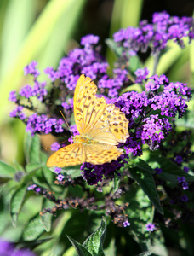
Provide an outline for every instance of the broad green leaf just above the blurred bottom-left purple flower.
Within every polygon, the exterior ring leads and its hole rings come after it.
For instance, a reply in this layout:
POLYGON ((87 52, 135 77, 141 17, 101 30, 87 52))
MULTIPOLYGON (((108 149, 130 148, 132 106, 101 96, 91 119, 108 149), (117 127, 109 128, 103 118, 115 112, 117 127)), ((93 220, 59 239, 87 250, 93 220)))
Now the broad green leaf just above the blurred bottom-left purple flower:
POLYGON ((23 230, 22 239, 25 241, 31 241, 37 239, 44 232, 43 224, 41 222, 39 213, 26 224, 23 230))

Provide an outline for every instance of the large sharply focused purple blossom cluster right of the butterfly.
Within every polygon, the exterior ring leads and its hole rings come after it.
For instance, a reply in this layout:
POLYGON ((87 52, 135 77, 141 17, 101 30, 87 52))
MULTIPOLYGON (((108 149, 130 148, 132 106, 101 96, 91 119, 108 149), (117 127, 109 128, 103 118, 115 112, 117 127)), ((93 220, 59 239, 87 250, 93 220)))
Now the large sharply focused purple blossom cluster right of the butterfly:
POLYGON ((165 75, 151 76, 145 84, 145 90, 148 94, 145 91, 128 91, 111 100, 129 120, 131 132, 124 145, 127 154, 142 154, 142 143, 148 144, 151 150, 158 148, 172 130, 169 119, 160 118, 159 114, 149 116, 150 112, 159 110, 161 116, 168 118, 178 113, 180 118, 188 108, 186 102, 191 99, 191 89, 186 84, 169 83, 165 75))

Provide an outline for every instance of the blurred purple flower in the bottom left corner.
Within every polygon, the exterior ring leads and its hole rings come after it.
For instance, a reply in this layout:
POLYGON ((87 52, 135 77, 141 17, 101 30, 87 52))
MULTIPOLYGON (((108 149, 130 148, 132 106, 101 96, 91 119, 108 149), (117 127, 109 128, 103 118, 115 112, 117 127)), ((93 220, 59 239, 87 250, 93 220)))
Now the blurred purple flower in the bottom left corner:
POLYGON ((28 249, 16 249, 9 241, 0 239, 0 255, 2 256, 35 256, 28 249))

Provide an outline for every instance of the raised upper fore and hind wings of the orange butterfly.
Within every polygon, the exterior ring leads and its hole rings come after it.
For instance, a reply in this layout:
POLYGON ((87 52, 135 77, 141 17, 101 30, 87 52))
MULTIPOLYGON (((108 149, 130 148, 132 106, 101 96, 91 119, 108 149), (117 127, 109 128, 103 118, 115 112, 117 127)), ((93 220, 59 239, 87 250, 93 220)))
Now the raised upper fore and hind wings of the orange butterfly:
POLYGON ((95 96, 97 86, 81 75, 74 94, 74 116, 80 134, 88 134, 96 142, 117 145, 129 137, 128 119, 104 97, 95 96))

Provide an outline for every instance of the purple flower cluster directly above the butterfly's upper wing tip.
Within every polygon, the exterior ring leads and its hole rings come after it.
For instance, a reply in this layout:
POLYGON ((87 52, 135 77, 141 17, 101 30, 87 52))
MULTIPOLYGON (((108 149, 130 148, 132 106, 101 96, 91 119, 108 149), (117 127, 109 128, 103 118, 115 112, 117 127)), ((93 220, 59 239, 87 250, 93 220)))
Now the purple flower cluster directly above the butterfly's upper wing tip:
POLYGON ((100 55, 99 49, 94 45, 99 41, 99 37, 88 35, 81 39, 83 49, 72 49, 70 53, 61 59, 57 70, 47 67, 44 72, 53 82, 60 79, 66 84, 68 90, 74 90, 77 79, 84 73, 91 79, 96 79, 106 73, 108 63, 100 55))

